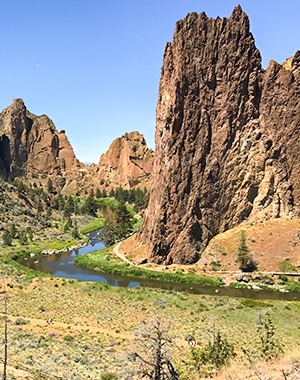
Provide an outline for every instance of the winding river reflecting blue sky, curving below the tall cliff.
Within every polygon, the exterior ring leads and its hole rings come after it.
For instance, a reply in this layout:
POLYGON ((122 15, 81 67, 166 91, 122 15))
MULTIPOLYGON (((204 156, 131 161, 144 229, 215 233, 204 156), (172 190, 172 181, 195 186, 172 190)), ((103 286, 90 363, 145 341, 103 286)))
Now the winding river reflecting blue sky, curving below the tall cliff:
POLYGON ((245 297, 254 299, 282 299, 300 300, 300 293, 280 293, 275 291, 236 288, 219 288, 211 286, 201 286, 198 284, 174 283, 161 280, 147 280, 119 276, 114 274, 101 273, 98 271, 81 268, 74 265, 74 258, 88 252, 104 248, 104 244, 99 239, 99 232, 95 231, 89 235, 90 242, 87 246, 73 249, 59 254, 41 255, 20 259, 18 262, 36 271, 48 273, 53 276, 75 279, 81 281, 102 282, 118 287, 151 287, 165 289, 169 291, 185 291, 194 294, 209 294, 229 297, 245 297))

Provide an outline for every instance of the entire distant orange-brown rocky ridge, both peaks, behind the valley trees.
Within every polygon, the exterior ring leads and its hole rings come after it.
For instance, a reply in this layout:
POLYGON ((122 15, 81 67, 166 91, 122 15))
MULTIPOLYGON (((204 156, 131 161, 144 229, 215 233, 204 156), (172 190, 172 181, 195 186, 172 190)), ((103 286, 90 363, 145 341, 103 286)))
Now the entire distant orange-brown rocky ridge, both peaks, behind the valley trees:
POLYGON ((80 194, 91 188, 149 186, 153 151, 138 132, 111 144, 98 165, 87 166, 75 157, 65 134, 46 115, 30 113, 22 99, 0 113, 0 177, 12 181, 46 183, 52 179, 62 193, 80 194))

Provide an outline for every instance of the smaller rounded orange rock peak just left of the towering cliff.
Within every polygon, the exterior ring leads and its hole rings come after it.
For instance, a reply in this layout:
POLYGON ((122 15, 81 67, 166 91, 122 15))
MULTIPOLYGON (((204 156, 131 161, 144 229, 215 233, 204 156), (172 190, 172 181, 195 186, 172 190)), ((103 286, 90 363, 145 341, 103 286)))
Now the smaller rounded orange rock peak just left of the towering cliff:
POLYGON ((96 179, 109 187, 149 187, 154 152, 139 132, 125 133, 115 139, 100 157, 96 179))

